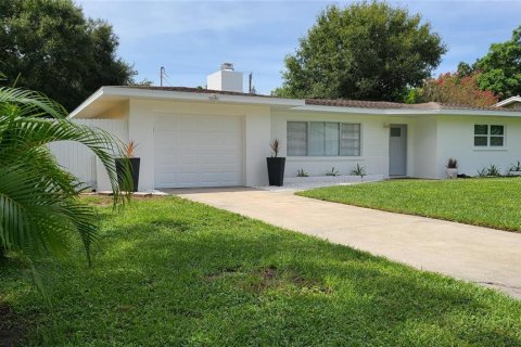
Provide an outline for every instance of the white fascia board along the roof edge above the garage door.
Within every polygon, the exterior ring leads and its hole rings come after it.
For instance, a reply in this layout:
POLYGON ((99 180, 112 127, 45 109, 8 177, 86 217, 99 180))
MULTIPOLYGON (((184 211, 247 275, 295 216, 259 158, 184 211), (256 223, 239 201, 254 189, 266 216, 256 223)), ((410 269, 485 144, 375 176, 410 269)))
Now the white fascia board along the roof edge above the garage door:
POLYGON ((249 97, 249 95, 228 95, 219 93, 198 93, 183 92, 171 90, 154 90, 154 89, 138 89, 125 87, 103 87, 103 94, 111 97, 127 97, 148 100, 185 100, 185 101, 206 101, 206 102, 229 102, 229 103, 244 103, 244 104, 259 104, 259 105, 280 105, 280 106, 298 106, 304 105, 304 100, 298 99, 280 99, 280 98, 264 98, 264 97, 249 97))

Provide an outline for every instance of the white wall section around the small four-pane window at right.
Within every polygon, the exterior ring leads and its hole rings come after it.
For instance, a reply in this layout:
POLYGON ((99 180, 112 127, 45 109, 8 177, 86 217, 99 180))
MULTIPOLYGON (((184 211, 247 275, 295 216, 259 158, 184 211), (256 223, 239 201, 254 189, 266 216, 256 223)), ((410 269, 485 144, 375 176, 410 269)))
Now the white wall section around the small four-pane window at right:
POLYGON ((503 172, 511 164, 521 160, 521 123, 509 117, 440 116, 437 121, 437 178, 445 177, 445 164, 449 157, 458 159, 459 174, 476 176, 478 170, 491 164, 503 172), (474 125, 505 126, 505 146, 497 149, 474 147, 474 125))

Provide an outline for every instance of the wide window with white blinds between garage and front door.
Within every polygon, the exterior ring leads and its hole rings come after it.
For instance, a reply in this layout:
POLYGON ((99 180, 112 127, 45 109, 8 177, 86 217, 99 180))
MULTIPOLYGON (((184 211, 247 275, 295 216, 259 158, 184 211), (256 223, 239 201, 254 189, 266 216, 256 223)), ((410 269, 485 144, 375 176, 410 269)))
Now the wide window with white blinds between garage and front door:
POLYGON ((288 156, 359 156, 360 125, 288 121, 288 156))

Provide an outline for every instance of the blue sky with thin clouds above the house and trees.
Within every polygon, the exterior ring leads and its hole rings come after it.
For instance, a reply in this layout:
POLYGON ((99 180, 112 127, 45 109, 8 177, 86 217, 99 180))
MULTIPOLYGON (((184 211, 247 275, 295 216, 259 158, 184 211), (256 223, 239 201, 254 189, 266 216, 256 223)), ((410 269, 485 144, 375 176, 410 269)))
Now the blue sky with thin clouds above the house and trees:
MULTIPOLYGON (((473 63, 493 42, 521 25, 517 1, 387 1, 431 23, 448 48, 434 75, 473 63)), ((87 16, 111 23, 119 37, 118 56, 134 64, 137 80, 164 86, 206 85, 224 62, 253 73, 257 93, 282 83, 283 60, 298 46, 320 11, 348 1, 150 1, 76 0, 87 16)), ((246 80, 244 86, 246 86, 246 80)))

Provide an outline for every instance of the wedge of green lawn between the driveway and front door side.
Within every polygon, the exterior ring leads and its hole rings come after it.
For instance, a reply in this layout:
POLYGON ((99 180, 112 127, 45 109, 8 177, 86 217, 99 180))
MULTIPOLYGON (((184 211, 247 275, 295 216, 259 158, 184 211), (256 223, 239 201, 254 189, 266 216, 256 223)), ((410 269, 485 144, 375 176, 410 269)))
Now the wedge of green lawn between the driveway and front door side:
POLYGON ((391 180, 320 188, 298 195, 521 231, 521 178, 391 180))

